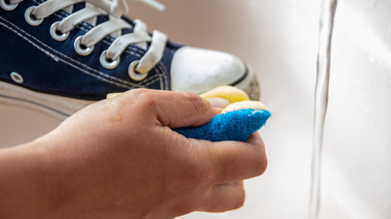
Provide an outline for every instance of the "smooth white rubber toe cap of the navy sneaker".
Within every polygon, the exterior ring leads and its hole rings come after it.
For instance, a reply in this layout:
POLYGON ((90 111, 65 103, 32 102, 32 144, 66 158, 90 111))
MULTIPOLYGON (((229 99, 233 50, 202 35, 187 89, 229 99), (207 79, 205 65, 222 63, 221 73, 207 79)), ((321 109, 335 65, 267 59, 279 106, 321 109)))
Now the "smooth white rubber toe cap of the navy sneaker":
POLYGON ((245 71, 245 64, 232 54, 183 46, 172 58, 171 90, 202 93, 238 81, 245 71))

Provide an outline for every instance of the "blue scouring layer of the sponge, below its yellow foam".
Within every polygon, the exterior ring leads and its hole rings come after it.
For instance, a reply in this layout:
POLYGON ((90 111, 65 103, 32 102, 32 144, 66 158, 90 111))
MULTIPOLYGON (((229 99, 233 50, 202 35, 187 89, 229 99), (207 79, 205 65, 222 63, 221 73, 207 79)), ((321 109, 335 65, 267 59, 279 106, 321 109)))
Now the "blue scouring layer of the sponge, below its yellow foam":
POLYGON ((269 117, 268 110, 239 109, 217 114, 208 123, 198 127, 180 127, 172 130, 189 138, 245 141, 260 129, 269 117))

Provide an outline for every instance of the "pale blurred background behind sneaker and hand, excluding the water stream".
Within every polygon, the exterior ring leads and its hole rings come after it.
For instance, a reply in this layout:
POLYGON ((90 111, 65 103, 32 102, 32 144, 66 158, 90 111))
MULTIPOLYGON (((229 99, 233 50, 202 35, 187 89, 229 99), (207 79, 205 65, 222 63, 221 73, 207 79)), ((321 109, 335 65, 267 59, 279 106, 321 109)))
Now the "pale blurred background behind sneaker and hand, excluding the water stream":
MULTIPOLYGON (((273 115, 260 131, 265 174, 245 182, 244 207, 182 218, 305 218, 312 152, 319 0, 128 1, 129 16, 173 41, 233 53, 253 66, 273 115)), ((340 0, 333 35, 320 218, 391 218, 391 1, 340 0)), ((0 104, 0 147, 56 127, 0 104)))

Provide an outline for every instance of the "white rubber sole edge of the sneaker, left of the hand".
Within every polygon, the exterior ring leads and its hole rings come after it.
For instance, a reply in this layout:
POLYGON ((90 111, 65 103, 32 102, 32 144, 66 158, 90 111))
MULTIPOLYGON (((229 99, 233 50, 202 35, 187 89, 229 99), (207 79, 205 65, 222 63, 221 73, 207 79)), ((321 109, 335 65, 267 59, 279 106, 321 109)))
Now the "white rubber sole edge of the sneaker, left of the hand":
POLYGON ((94 102, 36 92, 0 81, 0 103, 35 109, 62 120, 94 102))

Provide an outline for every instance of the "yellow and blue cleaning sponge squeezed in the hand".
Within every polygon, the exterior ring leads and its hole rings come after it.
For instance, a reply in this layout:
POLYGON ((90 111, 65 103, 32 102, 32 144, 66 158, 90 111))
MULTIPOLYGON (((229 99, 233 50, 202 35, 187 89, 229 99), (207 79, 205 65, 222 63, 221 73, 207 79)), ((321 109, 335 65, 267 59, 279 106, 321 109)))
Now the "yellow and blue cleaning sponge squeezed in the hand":
POLYGON ((245 92, 233 86, 216 87, 200 96, 204 98, 225 97, 230 100, 231 104, 204 125, 172 130, 186 137, 210 141, 245 141, 252 133, 260 129, 271 115, 262 102, 248 100, 245 92))

